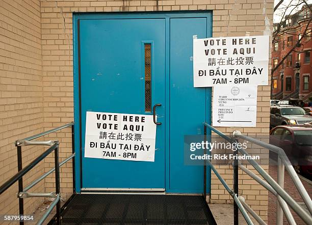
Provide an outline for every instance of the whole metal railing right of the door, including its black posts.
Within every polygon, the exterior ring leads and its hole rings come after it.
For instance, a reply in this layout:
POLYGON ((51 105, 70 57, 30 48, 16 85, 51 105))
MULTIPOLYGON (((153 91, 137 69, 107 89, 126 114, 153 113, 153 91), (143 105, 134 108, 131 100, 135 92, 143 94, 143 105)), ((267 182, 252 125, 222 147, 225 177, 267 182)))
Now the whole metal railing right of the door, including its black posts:
MULTIPOLYGON (((257 181, 259 184, 261 184, 262 186, 264 186, 268 191, 272 192, 278 202, 277 202, 277 206, 276 206, 276 224, 277 225, 281 225, 283 224, 283 213, 285 213, 285 217, 287 218, 288 222, 292 225, 292 224, 296 224, 296 221, 289 209, 289 206, 299 215, 299 217, 307 224, 312 224, 312 201, 307 193, 307 191, 305 190, 303 184, 301 183, 297 173, 295 172, 293 166, 291 165, 287 155, 285 154, 284 150, 270 145, 268 143, 262 142, 261 140, 257 140, 255 138, 252 137, 248 137, 246 135, 242 135, 240 131, 234 131, 233 132, 233 138, 225 135, 224 133, 222 133, 221 131, 217 130, 216 128, 212 127, 211 125, 204 123, 204 135, 206 136, 206 128, 209 128, 210 130, 214 131, 215 133, 217 133, 218 135, 220 135, 221 137, 223 137, 224 139, 228 140, 228 142, 233 143, 233 142, 238 142, 237 138, 241 138, 244 140, 247 140, 250 143, 253 143, 255 145, 258 146, 262 146, 266 149, 268 149, 269 151, 273 151, 275 153, 278 154, 278 178, 277 178, 277 182, 253 159, 251 158, 247 158, 248 162, 255 168, 255 170, 265 179, 263 180, 261 177, 255 175, 254 173, 252 173, 250 170, 248 170, 248 168, 246 168, 245 166, 243 166, 242 164, 240 164, 239 161, 235 162, 233 161, 233 166, 235 166, 237 164, 237 166, 239 168, 241 168, 242 171, 244 171, 247 175, 249 175, 251 178, 255 179, 255 181, 257 181), (306 207, 308 208, 308 211, 305 211, 286 191, 284 191, 283 189, 283 183, 284 183, 284 168, 287 168, 287 171, 290 175, 290 177, 292 178, 295 186, 297 187, 306 207)), ((204 139, 206 139, 206 137, 204 137, 204 139)), ((244 150, 243 148, 238 148, 238 151, 242 154, 242 155, 246 155, 249 156, 249 154, 247 153, 246 150, 244 150)), ((236 152, 238 152, 236 151, 236 152)), ((226 184, 226 182, 224 181, 224 179, 220 176, 220 174, 218 173, 218 171, 216 170, 216 168, 214 167, 214 165, 211 163, 210 160, 206 160, 212 170, 215 172, 216 176, 218 177, 218 179, 221 181, 221 183, 223 184, 223 186, 225 187, 225 189, 229 192, 229 194, 232 196, 233 200, 235 201, 234 207, 238 207, 240 209, 240 211, 242 212, 246 222, 248 224, 253 224, 249 215, 246 213, 246 210, 250 213, 250 215, 252 215, 254 217, 255 220, 257 220, 257 222, 259 222, 260 224, 266 224, 261 217, 259 217, 246 203, 245 200, 242 196, 238 196, 238 177, 234 176, 234 189, 236 189, 237 191, 233 191, 231 190, 228 185, 226 184), (236 187, 237 186, 237 187, 236 187), (246 210, 245 210, 246 209, 246 210)), ((204 164, 204 174, 205 174, 205 164, 204 164)), ((237 168, 234 167, 234 174, 237 173, 237 168)), ((204 179, 205 182, 205 179, 204 179)), ((236 212, 235 212, 236 213, 236 212)), ((237 212, 238 213, 238 212, 237 212)), ((236 220, 236 218, 238 218, 238 215, 234 216, 234 224, 238 224, 238 220, 236 220)))

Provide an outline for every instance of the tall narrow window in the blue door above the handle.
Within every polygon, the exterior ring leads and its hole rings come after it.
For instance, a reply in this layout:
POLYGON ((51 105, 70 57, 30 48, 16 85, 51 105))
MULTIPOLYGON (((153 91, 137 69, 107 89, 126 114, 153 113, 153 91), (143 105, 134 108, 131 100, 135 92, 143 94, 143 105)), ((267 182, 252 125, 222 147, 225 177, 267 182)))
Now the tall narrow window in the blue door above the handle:
POLYGON ((145 111, 151 111, 151 44, 144 44, 145 111))

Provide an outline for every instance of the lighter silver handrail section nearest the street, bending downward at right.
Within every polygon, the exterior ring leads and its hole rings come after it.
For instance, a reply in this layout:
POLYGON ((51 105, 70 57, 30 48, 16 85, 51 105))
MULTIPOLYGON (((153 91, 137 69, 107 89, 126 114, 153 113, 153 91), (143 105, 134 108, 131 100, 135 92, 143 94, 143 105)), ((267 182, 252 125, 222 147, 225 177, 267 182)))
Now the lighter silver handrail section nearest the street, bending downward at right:
MULTIPOLYGON (((262 146, 264 148, 267 148, 270 151, 273 151, 275 153, 278 154, 278 173, 279 175, 282 176, 278 176, 279 178, 279 183, 283 184, 283 170, 284 167, 287 167, 287 170, 291 176, 291 178, 293 179, 293 182, 295 183, 299 193, 301 194, 301 197, 303 199, 303 201, 305 202, 308 210, 310 211, 311 209, 311 205, 312 205, 312 201, 309 198, 309 195, 307 194, 303 184, 301 183, 297 173, 295 172, 294 168, 291 166, 290 161, 288 159, 288 157, 286 156, 285 152, 283 149, 270 145, 268 143, 265 142, 261 142, 260 140, 254 139, 252 137, 248 137, 246 135, 242 135, 240 131, 234 131, 233 132, 233 137, 236 138, 242 138, 244 140, 247 140, 248 142, 251 142, 253 144, 262 146), (282 164, 283 163, 283 164, 282 164)), ((249 154, 244 150, 244 149, 239 149, 239 151, 246 156, 249 156, 249 154)), ((255 168, 255 170, 269 183, 269 185, 277 192, 277 199, 279 197, 281 197, 285 202, 287 202, 287 204, 301 217, 301 219, 306 222, 307 224, 312 224, 312 217, 311 215, 309 215, 284 189, 283 187, 278 184, 255 160, 251 159, 251 158, 247 158, 248 162, 255 168)), ((282 206, 277 206, 277 212, 281 212, 279 213, 279 215, 277 215, 277 224, 281 224, 282 223, 282 206)), ((287 212, 288 214, 288 212, 287 212)), ((287 215, 288 216, 288 215, 287 215)), ((289 219, 289 218, 288 218, 289 219)), ((289 221, 290 223, 294 224, 294 221, 289 221)))

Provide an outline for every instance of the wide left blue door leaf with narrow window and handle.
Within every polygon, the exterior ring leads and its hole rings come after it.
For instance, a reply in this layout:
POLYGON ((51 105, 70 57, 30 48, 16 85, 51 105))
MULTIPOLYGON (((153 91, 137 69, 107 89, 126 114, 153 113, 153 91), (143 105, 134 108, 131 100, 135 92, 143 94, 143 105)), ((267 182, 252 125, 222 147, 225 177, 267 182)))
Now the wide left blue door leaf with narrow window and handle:
MULTIPOLYGON (((146 114, 144 46, 151 47, 151 105, 165 104, 165 20, 80 21, 82 143, 86 111, 146 114)), ((154 162, 82 158, 84 188, 165 188, 164 107, 154 162)), ((82 151, 84 156, 84 148, 82 151)))

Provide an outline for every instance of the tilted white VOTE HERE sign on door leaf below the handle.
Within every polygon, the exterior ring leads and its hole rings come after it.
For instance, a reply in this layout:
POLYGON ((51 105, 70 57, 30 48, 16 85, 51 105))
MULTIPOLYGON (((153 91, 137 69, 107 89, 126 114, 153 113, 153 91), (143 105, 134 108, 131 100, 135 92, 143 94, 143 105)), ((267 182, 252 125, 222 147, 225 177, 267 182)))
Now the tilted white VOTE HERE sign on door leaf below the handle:
POLYGON ((85 157, 153 162, 155 137, 152 115, 87 111, 85 157))

